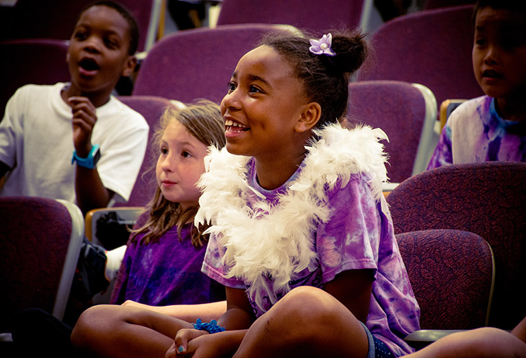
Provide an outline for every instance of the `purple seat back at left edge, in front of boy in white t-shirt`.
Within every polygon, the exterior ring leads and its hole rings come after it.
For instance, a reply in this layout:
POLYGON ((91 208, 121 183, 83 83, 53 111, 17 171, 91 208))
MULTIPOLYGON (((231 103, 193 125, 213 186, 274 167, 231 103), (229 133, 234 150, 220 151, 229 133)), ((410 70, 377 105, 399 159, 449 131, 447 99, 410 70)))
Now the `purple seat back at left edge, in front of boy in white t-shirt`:
POLYGON ((0 333, 40 308, 62 319, 84 238, 80 209, 47 198, 0 198, 0 333))

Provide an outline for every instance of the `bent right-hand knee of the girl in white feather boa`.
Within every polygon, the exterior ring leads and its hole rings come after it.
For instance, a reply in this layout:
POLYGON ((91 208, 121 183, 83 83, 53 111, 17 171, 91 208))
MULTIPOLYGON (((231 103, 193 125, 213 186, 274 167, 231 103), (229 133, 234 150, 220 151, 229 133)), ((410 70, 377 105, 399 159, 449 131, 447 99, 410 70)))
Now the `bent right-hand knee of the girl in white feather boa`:
POLYGON ((359 320, 322 289, 304 286, 291 290, 252 324, 234 357, 366 357, 367 353, 368 337, 359 320))

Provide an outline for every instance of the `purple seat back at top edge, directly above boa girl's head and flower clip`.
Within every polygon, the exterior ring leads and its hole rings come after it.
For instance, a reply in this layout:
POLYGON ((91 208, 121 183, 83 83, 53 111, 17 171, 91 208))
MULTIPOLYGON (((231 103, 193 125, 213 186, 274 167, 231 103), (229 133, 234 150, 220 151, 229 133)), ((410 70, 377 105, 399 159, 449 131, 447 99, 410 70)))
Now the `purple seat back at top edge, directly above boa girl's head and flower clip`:
POLYGON ((217 25, 287 24, 313 32, 361 25, 363 0, 224 0, 217 25))

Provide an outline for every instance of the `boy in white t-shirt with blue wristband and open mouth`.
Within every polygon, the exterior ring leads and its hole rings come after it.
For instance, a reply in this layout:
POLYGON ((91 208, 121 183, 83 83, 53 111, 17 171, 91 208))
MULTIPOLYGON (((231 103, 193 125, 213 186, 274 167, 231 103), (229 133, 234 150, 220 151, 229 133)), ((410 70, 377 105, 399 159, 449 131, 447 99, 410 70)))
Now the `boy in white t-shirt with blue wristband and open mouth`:
POLYGON ((0 122, 0 196, 75 202, 83 213, 127 201, 147 145, 148 125, 111 95, 132 74, 139 30, 111 1, 88 6, 67 51, 71 82, 19 88, 0 122))

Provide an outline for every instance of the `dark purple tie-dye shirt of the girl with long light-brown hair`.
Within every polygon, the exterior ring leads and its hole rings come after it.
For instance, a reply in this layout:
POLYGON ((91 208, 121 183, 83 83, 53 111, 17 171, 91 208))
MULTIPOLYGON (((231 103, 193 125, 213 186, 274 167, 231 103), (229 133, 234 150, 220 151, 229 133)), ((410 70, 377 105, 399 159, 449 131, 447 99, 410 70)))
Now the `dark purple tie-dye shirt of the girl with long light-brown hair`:
POLYGON ((186 305, 224 300, 224 287, 201 272, 206 246, 191 244, 190 228, 172 227, 156 243, 128 241, 124 259, 112 292, 112 303, 134 300, 152 306, 186 305))

